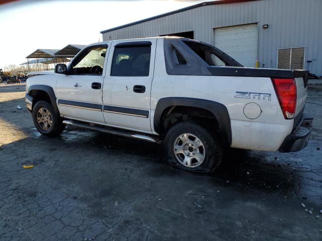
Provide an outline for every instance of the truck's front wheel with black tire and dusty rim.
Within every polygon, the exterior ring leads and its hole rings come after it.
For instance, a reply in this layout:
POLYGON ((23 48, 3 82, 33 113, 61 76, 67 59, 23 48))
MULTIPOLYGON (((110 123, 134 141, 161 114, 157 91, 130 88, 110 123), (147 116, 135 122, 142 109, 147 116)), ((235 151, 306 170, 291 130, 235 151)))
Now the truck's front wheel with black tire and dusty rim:
POLYGON ((65 125, 62 124, 61 117, 55 112, 52 105, 46 101, 40 100, 35 104, 32 110, 32 118, 38 132, 44 136, 59 136, 65 130, 65 125), (38 113, 40 109, 42 109, 42 111, 46 110, 46 115, 41 115, 38 113), (41 123, 39 123, 38 117, 42 120, 45 119, 45 121, 41 121, 41 123), (50 128, 49 126, 47 126, 48 128, 45 128, 44 124, 46 125, 46 123, 44 122, 47 122, 48 124, 48 121, 51 122, 50 128))

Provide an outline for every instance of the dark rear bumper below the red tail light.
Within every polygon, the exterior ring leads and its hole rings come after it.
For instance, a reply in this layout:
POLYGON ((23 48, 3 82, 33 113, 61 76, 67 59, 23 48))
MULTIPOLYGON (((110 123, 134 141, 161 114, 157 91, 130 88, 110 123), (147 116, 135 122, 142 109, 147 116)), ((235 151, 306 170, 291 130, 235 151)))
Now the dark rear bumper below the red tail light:
POLYGON ((288 135, 279 152, 297 152, 307 146, 312 131, 313 117, 303 115, 300 124, 288 135))

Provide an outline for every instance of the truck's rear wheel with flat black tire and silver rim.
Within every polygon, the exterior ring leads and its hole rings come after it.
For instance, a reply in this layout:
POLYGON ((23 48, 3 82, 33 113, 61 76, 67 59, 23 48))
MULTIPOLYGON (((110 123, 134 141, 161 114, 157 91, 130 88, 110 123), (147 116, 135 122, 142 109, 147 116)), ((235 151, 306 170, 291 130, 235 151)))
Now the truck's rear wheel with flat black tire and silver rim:
MULTIPOLYGON (((213 171, 215 171, 215 169, 221 163, 223 148, 217 138, 211 134, 215 132, 210 131, 210 129, 206 129, 203 126, 204 125, 199 125, 195 122, 180 122, 174 125, 168 131, 165 139, 165 147, 168 156, 167 162, 170 165, 176 166, 186 171, 198 173, 212 173, 213 171), (181 137, 184 137, 185 134, 187 134, 186 136, 188 136, 189 141, 185 145, 183 145, 184 143, 180 140, 181 137), (196 137, 196 139, 194 139, 193 136, 196 137), (196 140, 197 142, 201 141, 202 144, 199 149, 197 147, 197 151, 196 149, 194 149, 194 151, 189 152, 189 148, 193 149, 194 147, 188 147, 188 149, 184 148, 184 146, 193 146, 193 143, 195 143, 196 140), (182 143, 181 146, 180 142, 182 143), (177 147, 182 147, 182 150, 180 151, 183 151, 184 153, 176 154, 175 151, 178 151, 179 149, 175 149, 175 144, 178 144, 176 145, 177 147), (197 157, 197 155, 203 157, 203 161, 198 161, 197 158, 195 158, 197 157), (188 162, 184 161, 186 160, 186 158, 188 158, 187 160, 189 160, 189 158, 192 159, 192 161, 190 161, 191 165, 189 167, 187 166, 188 162)), ((187 140, 187 138, 185 140, 187 140)))

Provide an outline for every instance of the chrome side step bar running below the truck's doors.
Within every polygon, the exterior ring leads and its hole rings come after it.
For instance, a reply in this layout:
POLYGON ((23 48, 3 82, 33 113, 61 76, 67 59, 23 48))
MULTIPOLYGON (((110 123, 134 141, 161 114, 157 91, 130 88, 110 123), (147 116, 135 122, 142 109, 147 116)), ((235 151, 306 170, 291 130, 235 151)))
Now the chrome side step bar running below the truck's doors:
POLYGON ((124 132, 124 131, 118 131, 115 129, 108 129, 108 128, 104 128, 104 127, 97 127, 97 126, 90 126, 87 124, 82 124, 82 123, 78 123, 78 122, 73 122, 73 121, 63 121, 63 124, 67 125, 67 126, 72 126, 72 127, 80 127, 80 128, 86 128, 86 129, 90 129, 93 131, 99 131, 99 132, 104 132, 104 133, 108 133, 108 134, 113 134, 113 135, 118 135, 121 137, 128 137, 128 138, 133 138, 133 139, 140 139, 140 140, 144 140, 147 142, 152 142, 152 143, 159 143, 160 140, 157 138, 153 138, 153 137, 149 137, 149 136, 145 136, 145 135, 141 135, 141 134, 136 134, 136 133, 130 133, 130 132, 124 132))

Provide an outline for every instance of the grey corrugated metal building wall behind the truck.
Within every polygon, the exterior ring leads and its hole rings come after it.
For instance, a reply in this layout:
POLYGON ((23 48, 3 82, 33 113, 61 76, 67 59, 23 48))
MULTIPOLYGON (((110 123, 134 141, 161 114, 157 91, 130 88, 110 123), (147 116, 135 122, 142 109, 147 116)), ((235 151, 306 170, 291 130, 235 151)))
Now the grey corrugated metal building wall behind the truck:
MULTIPOLYGON (((259 0, 210 5, 103 33, 103 40, 154 37, 194 31, 194 38, 214 44, 214 28, 258 23, 260 66, 277 68, 277 50, 305 47, 304 68, 322 75, 321 0, 259 0), (268 24, 268 29, 262 26, 268 24)), ((232 56, 233 57, 233 56, 232 56)))

